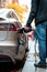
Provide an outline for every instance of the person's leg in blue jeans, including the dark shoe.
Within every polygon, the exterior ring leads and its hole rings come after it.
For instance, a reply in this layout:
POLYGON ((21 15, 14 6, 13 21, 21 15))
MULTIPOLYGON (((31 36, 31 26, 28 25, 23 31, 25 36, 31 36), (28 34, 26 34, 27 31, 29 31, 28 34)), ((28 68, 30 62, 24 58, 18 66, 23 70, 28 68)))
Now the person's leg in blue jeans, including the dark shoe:
POLYGON ((46 66, 46 25, 40 23, 36 25, 37 39, 39 44, 39 59, 40 62, 35 64, 35 66, 45 68, 46 66))

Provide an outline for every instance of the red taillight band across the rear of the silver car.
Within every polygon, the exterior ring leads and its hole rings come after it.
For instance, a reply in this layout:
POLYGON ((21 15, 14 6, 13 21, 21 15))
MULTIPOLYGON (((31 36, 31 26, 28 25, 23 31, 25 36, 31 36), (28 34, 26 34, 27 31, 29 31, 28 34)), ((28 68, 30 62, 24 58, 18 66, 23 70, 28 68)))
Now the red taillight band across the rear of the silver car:
POLYGON ((16 31, 17 24, 1 24, 0 31, 16 31))

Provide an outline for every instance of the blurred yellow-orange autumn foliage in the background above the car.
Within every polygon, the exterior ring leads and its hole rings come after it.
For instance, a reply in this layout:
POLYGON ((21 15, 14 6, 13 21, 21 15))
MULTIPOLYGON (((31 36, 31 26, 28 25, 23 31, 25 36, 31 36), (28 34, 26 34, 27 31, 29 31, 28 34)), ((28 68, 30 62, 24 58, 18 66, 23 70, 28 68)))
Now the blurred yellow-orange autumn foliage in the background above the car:
POLYGON ((12 0, 12 3, 9 3, 5 8, 13 9, 17 13, 21 23, 23 23, 23 13, 28 12, 28 9, 24 6, 22 7, 19 0, 12 0))

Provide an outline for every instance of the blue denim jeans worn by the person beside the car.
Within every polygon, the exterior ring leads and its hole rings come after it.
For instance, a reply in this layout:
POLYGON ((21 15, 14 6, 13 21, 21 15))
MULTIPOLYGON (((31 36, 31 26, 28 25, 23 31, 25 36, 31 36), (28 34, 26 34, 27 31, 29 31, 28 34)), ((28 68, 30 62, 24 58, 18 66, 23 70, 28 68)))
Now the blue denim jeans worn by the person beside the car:
POLYGON ((46 27, 47 21, 38 23, 36 25, 36 33, 37 33, 36 38, 38 39, 40 61, 46 61, 46 27))

